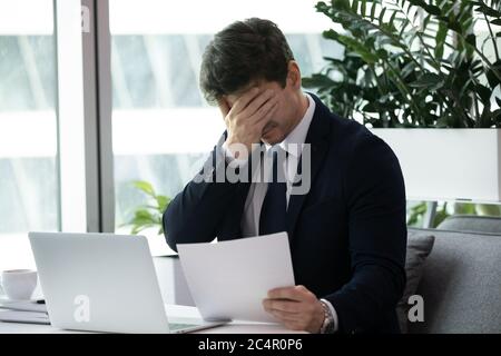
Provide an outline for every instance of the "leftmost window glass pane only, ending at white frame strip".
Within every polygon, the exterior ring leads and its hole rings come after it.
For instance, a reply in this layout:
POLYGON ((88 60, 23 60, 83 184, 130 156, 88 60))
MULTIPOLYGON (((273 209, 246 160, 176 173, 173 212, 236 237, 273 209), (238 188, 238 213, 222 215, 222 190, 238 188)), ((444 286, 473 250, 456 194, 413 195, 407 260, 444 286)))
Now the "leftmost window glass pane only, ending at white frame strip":
POLYGON ((59 228, 51 0, 0 0, 0 78, 2 269, 22 265, 26 231, 59 228))

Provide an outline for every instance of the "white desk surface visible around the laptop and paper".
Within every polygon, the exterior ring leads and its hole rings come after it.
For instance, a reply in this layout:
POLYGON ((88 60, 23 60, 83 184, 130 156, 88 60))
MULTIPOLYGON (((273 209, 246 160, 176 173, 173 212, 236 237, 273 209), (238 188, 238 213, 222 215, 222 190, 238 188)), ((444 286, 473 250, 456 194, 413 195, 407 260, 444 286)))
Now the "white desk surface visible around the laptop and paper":
MULTIPOLYGON (((195 307, 166 305, 170 317, 200 317, 195 307)), ((78 334, 82 332, 61 330, 50 325, 18 324, 0 322, 0 334, 78 334)), ((281 325, 249 322, 233 322, 227 325, 204 329, 197 334, 304 334, 288 330, 281 325)))

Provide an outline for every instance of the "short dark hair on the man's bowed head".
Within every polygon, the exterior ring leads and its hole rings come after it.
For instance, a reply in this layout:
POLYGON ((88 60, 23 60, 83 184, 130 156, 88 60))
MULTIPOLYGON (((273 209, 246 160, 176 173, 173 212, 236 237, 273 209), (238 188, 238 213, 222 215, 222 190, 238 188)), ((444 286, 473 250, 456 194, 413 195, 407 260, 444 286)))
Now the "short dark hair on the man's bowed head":
POLYGON ((236 21, 216 33, 205 49, 200 88, 212 105, 254 80, 276 81, 284 88, 293 59, 284 33, 274 22, 257 18, 236 21))

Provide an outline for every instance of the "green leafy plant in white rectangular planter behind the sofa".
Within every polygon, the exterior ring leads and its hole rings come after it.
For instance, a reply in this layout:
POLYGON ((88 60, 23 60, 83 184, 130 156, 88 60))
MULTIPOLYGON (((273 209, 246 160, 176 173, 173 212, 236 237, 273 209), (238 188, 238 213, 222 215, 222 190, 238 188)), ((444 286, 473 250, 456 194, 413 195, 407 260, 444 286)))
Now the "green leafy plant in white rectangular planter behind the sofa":
POLYGON ((501 1, 333 0, 316 10, 344 56, 325 58, 303 86, 393 148, 409 198, 500 201, 501 1))

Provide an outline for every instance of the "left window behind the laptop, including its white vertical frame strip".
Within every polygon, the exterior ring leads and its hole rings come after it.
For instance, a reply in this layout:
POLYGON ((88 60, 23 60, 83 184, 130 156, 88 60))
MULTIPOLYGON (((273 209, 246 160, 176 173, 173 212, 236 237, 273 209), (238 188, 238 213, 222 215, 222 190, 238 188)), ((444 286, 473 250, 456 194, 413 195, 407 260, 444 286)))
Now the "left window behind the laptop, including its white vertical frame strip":
POLYGON ((81 22, 80 0, 0 0, 0 269, 35 267, 28 231, 86 230, 81 22))

